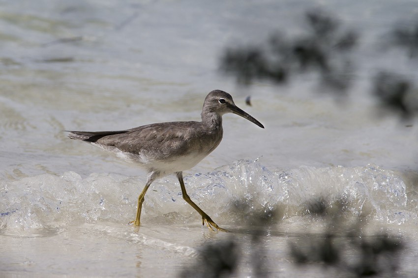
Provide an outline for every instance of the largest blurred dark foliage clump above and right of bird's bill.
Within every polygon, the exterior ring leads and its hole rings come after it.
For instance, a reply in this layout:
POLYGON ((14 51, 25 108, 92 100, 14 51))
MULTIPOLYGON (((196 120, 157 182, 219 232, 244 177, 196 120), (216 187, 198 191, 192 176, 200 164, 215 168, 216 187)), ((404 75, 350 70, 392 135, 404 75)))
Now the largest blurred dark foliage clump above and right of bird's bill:
POLYGON ((306 34, 287 39, 281 33, 270 36, 266 45, 230 48, 221 57, 221 69, 239 83, 267 79, 285 83, 296 73, 319 73, 321 84, 343 93, 351 84, 353 65, 349 51, 357 43, 353 30, 319 11, 305 16, 306 34))

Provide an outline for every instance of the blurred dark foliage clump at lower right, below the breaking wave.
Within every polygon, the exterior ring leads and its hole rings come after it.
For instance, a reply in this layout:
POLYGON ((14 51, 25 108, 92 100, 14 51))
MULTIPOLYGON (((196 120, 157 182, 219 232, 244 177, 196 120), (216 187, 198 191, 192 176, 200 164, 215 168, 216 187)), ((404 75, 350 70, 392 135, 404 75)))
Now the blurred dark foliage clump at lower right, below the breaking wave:
POLYGON ((320 198, 307 204, 307 214, 325 219, 328 228, 321 235, 307 235, 303 243, 290 243, 296 263, 333 267, 346 276, 395 275, 403 249, 402 240, 388 233, 365 235, 360 228, 361 219, 347 222, 343 200, 332 206, 326 203, 320 198), (352 250, 357 259, 350 260, 347 250, 352 250))

